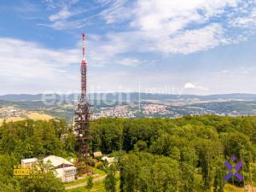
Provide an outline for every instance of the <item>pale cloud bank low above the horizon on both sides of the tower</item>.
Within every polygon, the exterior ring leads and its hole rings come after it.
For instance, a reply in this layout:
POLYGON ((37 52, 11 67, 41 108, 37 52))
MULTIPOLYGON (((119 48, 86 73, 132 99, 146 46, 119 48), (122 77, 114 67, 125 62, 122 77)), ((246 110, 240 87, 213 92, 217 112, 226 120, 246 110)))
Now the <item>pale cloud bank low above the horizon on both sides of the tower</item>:
MULTIPOLYGON (((98 39, 95 37, 95 39, 98 39)), ((113 39, 112 39, 113 40, 113 39)), ((118 42, 116 42, 118 43, 118 42)), ((90 44, 87 45, 89 47, 90 44)), ((79 46, 79 44, 78 44, 79 46)), ((104 45, 102 48, 97 46, 98 51, 106 50, 109 47, 104 45)), ((185 93, 209 94, 225 92, 247 92, 255 91, 253 82, 255 82, 255 68, 237 68, 236 71, 230 69, 224 70, 220 74, 193 75, 184 72, 183 75, 174 72, 147 72, 134 70, 131 73, 128 70, 92 70, 92 66, 103 62, 105 65, 113 65, 113 62, 127 62, 134 65, 143 61, 137 61, 134 58, 118 58, 118 48, 110 48, 112 52, 98 54, 100 58, 91 58, 89 86, 98 86, 96 91, 134 91, 141 86, 141 90, 161 90, 168 93, 177 93, 183 90, 185 93), (110 55, 113 62, 108 60, 110 55), (224 74, 223 74, 224 73, 224 74), (118 80, 117 80, 118 79, 118 80), (221 84, 216 83, 222 82, 221 84), (194 82, 197 83, 194 83, 194 82), (140 83, 138 83, 140 82, 140 83), (187 83, 186 83, 187 82, 187 83), (193 83, 190 83, 193 82, 193 83), (207 84, 209 90, 204 84, 207 84), (122 89, 121 89, 122 88, 122 89), (229 89, 227 89, 229 88, 229 89)), ((0 38, 0 95, 5 93, 38 93, 38 92, 69 92, 79 90, 79 61, 80 49, 47 49, 40 44, 21 41, 12 38, 0 38), (68 55, 68 56, 67 56, 68 55), (75 71, 69 70, 70 65, 76 66, 75 71), (32 90, 29 88, 32 87, 32 90)), ((126 64, 127 64, 126 63, 126 64)), ((110 67, 111 68, 111 67, 110 67)), ((132 67, 131 67, 132 69, 132 67)))

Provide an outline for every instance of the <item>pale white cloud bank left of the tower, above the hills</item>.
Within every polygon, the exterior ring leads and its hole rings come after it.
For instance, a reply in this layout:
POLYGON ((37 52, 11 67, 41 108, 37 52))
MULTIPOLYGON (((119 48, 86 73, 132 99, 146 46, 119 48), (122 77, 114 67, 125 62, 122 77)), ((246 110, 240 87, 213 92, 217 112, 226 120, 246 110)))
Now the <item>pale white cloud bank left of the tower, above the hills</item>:
POLYGON ((0 94, 31 92, 28 87, 35 91, 72 90, 76 78, 68 67, 79 63, 79 53, 79 49, 54 50, 32 42, 0 38, 0 73, 4 77, 0 94))

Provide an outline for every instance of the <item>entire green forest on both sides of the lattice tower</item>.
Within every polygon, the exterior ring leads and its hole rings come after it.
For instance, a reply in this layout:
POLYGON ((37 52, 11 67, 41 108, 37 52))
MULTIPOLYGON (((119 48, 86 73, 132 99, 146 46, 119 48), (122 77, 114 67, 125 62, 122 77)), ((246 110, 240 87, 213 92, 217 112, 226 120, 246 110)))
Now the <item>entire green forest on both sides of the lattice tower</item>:
MULTIPOLYGON (((116 157, 108 175, 119 174, 120 192, 221 192, 225 183, 256 183, 256 117, 185 116, 178 119, 96 119, 91 153, 116 157), (243 180, 231 177, 225 161, 242 160, 243 180), (112 173, 111 173, 112 172, 112 173)), ((65 191, 51 172, 42 179, 13 177, 20 160, 55 154, 76 156, 73 126, 65 120, 25 120, 0 127, 2 191, 65 191)), ((115 191, 108 189, 107 191, 115 191)))

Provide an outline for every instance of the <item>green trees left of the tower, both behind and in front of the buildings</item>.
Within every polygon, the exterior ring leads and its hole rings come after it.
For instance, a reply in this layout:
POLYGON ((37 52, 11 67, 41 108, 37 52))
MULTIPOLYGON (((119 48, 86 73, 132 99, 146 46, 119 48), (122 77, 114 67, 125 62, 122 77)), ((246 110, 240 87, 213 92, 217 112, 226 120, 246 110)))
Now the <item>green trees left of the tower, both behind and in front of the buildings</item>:
POLYGON ((16 178, 13 176, 14 166, 20 165, 20 160, 25 158, 40 158, 49 154, 73 156, 74 147, 72 129, 64 120, 4 122, 0 126, 0 190, 65 191, 61 180, 53 172, 43 172, 36 178, 16 178))

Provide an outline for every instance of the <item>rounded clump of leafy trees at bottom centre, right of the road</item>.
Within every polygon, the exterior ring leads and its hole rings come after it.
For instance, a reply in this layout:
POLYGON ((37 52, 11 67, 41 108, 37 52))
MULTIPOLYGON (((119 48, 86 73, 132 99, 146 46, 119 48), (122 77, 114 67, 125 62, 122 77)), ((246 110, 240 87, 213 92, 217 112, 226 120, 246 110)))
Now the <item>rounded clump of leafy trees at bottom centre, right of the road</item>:
POLYGON ((131 153, 123 157, 122 164, 125 192, 178 191, 182 188, 176 160, 147 153, 131 153))

